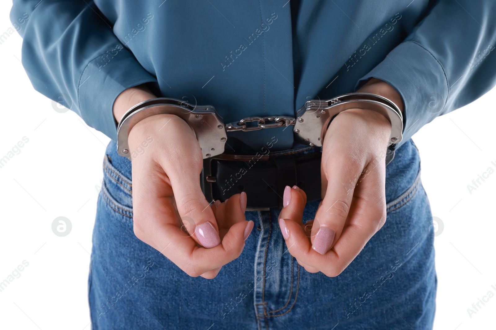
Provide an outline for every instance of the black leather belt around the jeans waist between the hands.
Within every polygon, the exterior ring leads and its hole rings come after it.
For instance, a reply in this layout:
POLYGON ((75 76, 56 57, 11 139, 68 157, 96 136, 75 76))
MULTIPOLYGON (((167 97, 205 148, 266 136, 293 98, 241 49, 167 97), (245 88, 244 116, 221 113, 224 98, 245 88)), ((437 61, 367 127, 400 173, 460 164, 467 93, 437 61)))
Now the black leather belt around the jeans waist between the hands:
POLYGON ((220 154, 203 160, 201 189, 207 201, 225 201, 245 191, 247 210, 282 208, 286 186, 305 190, 307 201, 321 198, 319 150, 307 154, 220 154))

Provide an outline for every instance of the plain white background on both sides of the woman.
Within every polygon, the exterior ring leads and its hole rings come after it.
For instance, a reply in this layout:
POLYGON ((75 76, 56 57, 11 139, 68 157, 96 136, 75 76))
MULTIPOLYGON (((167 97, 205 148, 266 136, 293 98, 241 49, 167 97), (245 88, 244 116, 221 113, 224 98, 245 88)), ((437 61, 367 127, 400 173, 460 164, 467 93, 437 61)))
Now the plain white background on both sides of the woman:
MULTIPOLYGON (((11 3, 0 4, 0 34, 11 27, 11 3)), ((496 56, 490 54, 489 56, 496 56)), ((0 292, 2 329, 89 329, 87 275, 102 160, 109 138, 72 111, 59 113, 31 86, 14 31, 0 45, 0 158, 25 136, 21 152, 0 168, 2 211, 0 282, 26 260, 29 265, 0 292), (59 216, 72 223, 68 236, 52 232, 59 216)), ((414 136, 422 157, 422 182, 433 215, 444 229, 435 238, 438 276, 434 329, 495 329, 494 240, 496 173, 469 193, 467 185, 496 169, 492 90, 475 102, 426 125, 414 136)))

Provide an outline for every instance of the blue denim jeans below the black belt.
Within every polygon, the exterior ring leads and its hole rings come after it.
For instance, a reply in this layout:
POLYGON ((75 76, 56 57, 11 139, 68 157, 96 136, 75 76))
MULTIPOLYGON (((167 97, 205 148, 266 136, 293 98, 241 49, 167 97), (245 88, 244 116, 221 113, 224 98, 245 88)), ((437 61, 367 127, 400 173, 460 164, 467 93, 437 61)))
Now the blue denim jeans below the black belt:
MULTIPOLYGON (((277 209, 246 212, 254 228, 245 249, 216 278, 189 277, 134 236, 131 165, 113 141, 103 172, 88 280, 92 329, 432 329, 432 216, 412 140, 386 167, 385 225, 334 278, 298 265, 277 209)), ((304 221, 318 202, 307 204, 304 221)))

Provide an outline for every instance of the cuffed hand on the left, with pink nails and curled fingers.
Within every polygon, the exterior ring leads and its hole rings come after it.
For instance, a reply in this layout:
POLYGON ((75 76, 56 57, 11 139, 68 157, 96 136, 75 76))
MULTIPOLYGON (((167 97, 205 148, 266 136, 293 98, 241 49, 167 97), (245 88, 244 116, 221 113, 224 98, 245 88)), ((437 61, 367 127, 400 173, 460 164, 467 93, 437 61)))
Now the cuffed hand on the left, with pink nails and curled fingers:
POLYGON ((141 120, 129 132, 128 145, 134 234, 189 276, 214 278, 240 256, 253 228, 245 220, 246 193, 210 205, 200 189, 200 146, 176 115, 141 120))

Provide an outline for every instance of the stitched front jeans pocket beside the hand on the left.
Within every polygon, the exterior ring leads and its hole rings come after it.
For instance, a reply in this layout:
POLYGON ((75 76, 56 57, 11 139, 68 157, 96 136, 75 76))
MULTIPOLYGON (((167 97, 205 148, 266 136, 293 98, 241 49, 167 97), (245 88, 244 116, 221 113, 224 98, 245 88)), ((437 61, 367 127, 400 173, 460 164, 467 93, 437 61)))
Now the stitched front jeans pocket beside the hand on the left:
POLYGON ((108 154, 103 161, 102 196, 115 211, 132 217, 132 182, 112 165, 108 154))

